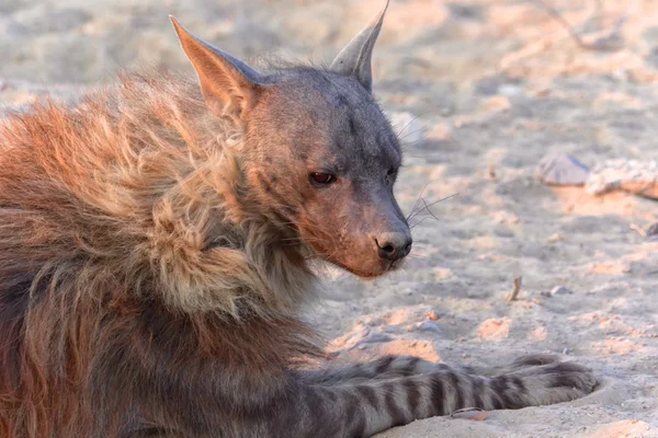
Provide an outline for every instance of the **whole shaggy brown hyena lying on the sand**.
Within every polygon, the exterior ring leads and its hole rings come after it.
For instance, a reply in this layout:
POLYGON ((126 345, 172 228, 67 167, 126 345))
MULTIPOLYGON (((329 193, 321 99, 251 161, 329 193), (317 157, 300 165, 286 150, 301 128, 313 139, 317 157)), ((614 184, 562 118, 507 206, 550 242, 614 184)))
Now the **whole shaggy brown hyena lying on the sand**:
POLYGON ((197 82, 128 74, 2 122, 0 436, 362 437, 593 389, 544 356, 307 366, 310 261, 374 277, 411 247, 383 15, 329 68, 266 73, 173 20, 197 82))

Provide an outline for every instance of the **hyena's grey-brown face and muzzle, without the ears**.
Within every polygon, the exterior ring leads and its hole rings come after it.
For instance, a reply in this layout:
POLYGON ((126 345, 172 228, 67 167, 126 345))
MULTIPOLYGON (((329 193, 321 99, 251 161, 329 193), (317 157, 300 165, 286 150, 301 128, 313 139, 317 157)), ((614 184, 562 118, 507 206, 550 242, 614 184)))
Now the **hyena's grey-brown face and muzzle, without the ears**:
POLYGON ((409 253, 393 194, 399 143, 359 81, 315 69, 279 73, 250 112, 247 145, 257 198, 318 255, 370 277, 409 253))

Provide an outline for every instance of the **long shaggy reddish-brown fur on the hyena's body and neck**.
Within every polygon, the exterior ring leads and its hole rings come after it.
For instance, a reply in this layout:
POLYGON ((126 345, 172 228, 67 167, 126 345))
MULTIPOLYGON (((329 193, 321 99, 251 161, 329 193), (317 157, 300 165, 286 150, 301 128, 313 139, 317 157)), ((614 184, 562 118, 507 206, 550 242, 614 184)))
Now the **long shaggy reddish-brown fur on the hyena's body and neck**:
POLYGON ((114 436, 135 412, 203 425, 218 394, 266 403, 280 389, 261 387, 317 354, 294 318, 302 249, 250 265, 280 243, 237 193, 228 122, 193 84, 124 77, 2 123, 0 436, 114 436), (208 249, 237 220, 217 206, 242 223, 232 243, 258 233, 250 260, 208 249))

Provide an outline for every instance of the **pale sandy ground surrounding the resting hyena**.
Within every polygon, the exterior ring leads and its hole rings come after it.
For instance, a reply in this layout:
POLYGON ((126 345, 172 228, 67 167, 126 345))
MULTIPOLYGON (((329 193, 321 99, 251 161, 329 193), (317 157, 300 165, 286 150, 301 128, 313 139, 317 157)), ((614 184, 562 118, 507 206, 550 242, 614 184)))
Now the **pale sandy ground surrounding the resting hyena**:
MULTIPOLYGON (((337 360, 501 364, 552 351, 604 384, 572 403, 382 437, 658 437, 658 242, 637 231, 658 221, 658 203, 534 177, 549 151, 590 165, 658 159, 658 1, 546 1, 598 49, 531 1, 392 1, 374 73, 406 142, 398 199, 411 211, 421 192, 428 203, 456 196, 412 220, 406 270, 370 283, 333 273, 313 318, 337 360), (514 277, 522 289, 508 302, 514 277), (566 291, 552 295, 557 286, 566 291)), ((0 0, 0 99, 67 95, 66 84, 120 67, 192 72, 169 13, 238 56, 329 61, 381 3, 0 0)))

